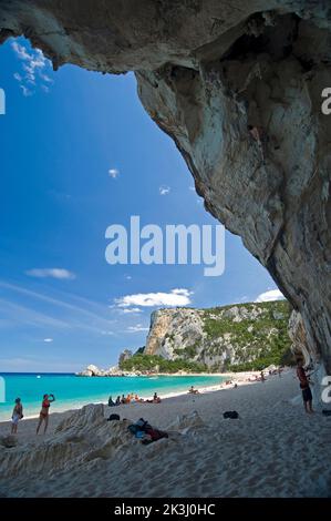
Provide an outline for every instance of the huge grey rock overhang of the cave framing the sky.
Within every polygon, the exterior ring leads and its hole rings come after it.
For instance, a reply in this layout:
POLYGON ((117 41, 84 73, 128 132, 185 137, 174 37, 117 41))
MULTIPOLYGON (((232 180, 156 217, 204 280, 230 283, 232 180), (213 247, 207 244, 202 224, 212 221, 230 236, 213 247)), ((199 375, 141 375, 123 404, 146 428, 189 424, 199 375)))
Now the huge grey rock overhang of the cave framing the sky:
POLYGON ((2 0, 0 28, 55 69, 135 71, 206 208, 267 267, 331 371, 329 2, 2 0))

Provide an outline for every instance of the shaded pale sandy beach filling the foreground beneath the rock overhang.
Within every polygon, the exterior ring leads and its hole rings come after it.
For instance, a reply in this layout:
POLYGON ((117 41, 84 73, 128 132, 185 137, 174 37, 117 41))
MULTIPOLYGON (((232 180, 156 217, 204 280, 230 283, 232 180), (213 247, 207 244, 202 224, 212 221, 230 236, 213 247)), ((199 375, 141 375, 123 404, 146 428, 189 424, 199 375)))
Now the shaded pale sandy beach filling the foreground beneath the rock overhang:
MULTIPOLYGON (((162 403, 53 413, 46 436, 22 420, 0 447, 1 497, 330 497, 330 417, 306 415, 292 370, 265 382, 180 395, 162 403), (237 410, 239 419, 224 419, 237 410), (108 422, 111 412, 121 421, 108 422), (169 438, 143 446, 143 417, 169 438)), ((9 422, 0 423, 0 436, 9 422)))

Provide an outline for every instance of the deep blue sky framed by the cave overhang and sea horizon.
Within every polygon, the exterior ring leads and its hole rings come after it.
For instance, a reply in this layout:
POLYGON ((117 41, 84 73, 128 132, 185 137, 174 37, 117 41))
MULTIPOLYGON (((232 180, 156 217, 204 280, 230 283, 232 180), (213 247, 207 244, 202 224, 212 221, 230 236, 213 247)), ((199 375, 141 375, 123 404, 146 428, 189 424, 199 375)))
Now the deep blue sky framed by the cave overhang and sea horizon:
POLYGON ((108 367, 145 344, 161 303, 210 307, 276 289, 229 233, 219 277, 197 265, 106 263, 107 226, 128 227, 132 215, 162 227, 218 224, 144 112, 133 74, 54 73, 19 39, 0 48, 0 370, 108 367))

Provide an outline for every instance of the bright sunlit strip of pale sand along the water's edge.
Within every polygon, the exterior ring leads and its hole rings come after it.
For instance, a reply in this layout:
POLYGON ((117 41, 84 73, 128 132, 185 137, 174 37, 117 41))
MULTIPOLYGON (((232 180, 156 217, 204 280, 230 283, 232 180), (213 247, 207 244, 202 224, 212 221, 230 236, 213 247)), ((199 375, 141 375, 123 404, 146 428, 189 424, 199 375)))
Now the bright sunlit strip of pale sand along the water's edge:
MULTIPOLYGON (((287 372, 287 369, 285 370, 285 372, 287 372)), ((242 385, 251 385, 251 384, 258 384, 259 381, 256 380, 256 381, 247 381, 247 379, 249 377, 255 377, 255 376, 259 376, 260 375, 260 371, 242 371, 242 372, 217 372, 217 374, 188 374, 188 375, 168 375, 168 374, 159 374, 159 375, 153 375, 153 376, 180 376, 180 377, 187 377, 187 376, 204 376, 204 377, 207 377, 207 376, 210 376, 210 377, 220 377, 220 378, 228 378, 228 380, 231 381, 231 385, 227 385, 226 381, 223 381, 223 382, 219 382, 219 384, 211 384, 209 386, 199 386, 199 385, 195 385, 194 387, 196 389, 198 389, 199 391, 199 395, 206 395, 208 392, 216 392, 216 391, 220 391, 223 389, 231 389, 234 388, 234 385, 237 384, 238 387, 241 387, 242 385), (231 386, 231 387, 230 387, 231 386)), ((144 376, 147 376, 147 375, 144 375, 144 376)), ((151 376, 149 376, 151 377, 151 376)), ((103 378, 103 377, 85 377, 85 378, 103 378)), ((108 377, 105 377, 105 378, 108 378, 108 377)), ((180 396, 196 396, 196 395, 190 395, 188 392, 188 389, 186 390, 177 390, 177 391, 173 391, 173 392, 158 392, 158 396, 162 400, 167 400, 169 398, 177 398, 177 397, 180 397, 180 396)), ((153 394, 152 395, 145 395, 145 394, 142 394, 139 396, 139 398, 143 398, 144 400, 146 399, 151 399, 153 397, 153 394)), ((50 412, 50 416, 52 415, 64 415, 64 413, 69 413, 69 412, 75 412, 80 409, 82 409, 82 407, 89 405, 89 403, 94 403, 94 405, 104 405, 107 407, 107 402, 106 401, 77 401, 77 402, 72 402, 72 406, 63 406, 63 408, 60 406, 60 409, 56 409, 56 410, 52 410, 51 409, 51 412, 50 412)), ((146 403, 146 402, 145 402, 146 403)), ((127 405, 144 405, 144 402, 137 402, 137 401, 133 401, 132 403, 125 403, 125 405, 121 405, 121 406, 116 406, 115 408, 117 407, 125 407, 127 405)), ((110 408, 110 409, 114 409, 113 407, 110 408)), ((35 413, 35 415, 29 415, 29 416, 25 416, 24 415, 24 418, 23 420, 21 420, 20 425, 22 425, 22 422, 24 420, 35 420, 39 418, 39 413, 35 413)), ((7 425, 7 423, 11 423, 11 420, 10 418, 8 420, 2 420, 0 419, 0 426, 2 425, 7 425)))

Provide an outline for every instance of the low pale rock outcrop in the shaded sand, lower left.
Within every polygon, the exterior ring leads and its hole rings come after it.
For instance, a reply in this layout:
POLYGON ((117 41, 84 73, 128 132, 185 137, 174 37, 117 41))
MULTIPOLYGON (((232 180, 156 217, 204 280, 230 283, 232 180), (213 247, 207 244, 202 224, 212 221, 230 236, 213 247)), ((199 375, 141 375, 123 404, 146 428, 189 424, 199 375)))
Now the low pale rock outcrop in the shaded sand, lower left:
POLYGON ((112 459, 118 451, 121 457, 121 451, 133 443, 127 431, 130 422, 106 421, 103 406, 90 403, 64 419, 42 443, 2 449, 1 473, 19 480, 21 476, 48 479, 82 466, 87 471, 89 463, 112 459))

